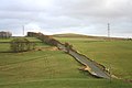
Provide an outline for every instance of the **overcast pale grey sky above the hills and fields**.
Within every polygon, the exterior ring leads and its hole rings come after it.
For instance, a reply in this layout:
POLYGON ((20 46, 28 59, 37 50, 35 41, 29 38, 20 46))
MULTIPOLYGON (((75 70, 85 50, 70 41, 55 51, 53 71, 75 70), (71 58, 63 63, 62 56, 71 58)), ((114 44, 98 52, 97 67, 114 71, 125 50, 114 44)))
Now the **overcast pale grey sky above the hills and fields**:
POLYGON ((0 0, 0 31, 132 37, 132 0, 0 0))

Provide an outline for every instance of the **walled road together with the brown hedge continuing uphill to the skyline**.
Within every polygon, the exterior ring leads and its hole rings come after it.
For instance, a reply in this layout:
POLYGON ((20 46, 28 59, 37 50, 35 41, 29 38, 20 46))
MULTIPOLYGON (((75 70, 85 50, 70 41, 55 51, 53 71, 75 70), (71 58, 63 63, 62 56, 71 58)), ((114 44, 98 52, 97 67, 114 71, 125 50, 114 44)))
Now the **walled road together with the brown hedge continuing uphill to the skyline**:
POLYGON ((43 33, 28 32, 28 36, 34 36, 42 40, 44 43, 57 46, 59 50, 67 52, 69 55, 76 58, 80 64, 85 65, 85 70, 88 70, 91 75, 100 78, 111 78, 109 72, 106 70, 106 67, 91 61, 87 56, 76 52, 70 47, 69 44, 63 44, 59 41, 51 37, 50 35, 44 35, 43 33))

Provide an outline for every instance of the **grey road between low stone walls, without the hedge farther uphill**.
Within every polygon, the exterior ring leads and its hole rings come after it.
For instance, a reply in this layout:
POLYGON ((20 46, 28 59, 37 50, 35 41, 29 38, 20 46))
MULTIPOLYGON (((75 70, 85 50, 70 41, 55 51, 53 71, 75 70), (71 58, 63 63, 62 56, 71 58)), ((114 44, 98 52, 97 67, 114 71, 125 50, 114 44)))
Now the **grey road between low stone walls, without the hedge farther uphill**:
MULTIPOLYGON (((67 52, 65 45, 63 45, 63 44, 58 44, 57 47, 59 50, 67 52)), ((72 55, 73 57, 75 57, 76 61, 78 61, 79 63, 81 63, 82 65, 88 67, 88 68, 86 68, 86 70, 88 70, 91 75, 94 75, 96 77, 100 77, 100 78, 110 79, 110 74, 105 69, 105 67, 102 65, 89 59, 87 56, 79 54, 78 52, 76 52, 74 50, 69 50, 68 54, 72 55)))

